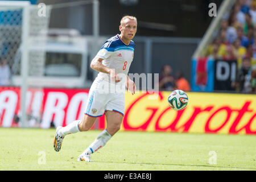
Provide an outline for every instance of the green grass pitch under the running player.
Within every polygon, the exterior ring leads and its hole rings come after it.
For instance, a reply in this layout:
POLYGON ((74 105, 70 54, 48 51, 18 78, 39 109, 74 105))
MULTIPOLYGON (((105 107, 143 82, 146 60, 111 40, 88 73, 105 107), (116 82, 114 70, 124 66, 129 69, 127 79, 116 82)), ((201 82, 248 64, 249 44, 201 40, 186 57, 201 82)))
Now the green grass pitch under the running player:
POLYGON ((256 170, 255 135, 119 131, 94 162, 77 162, 100 132, 67 135, 55 152, 55 129, 0 128, 0 170, 256 170))

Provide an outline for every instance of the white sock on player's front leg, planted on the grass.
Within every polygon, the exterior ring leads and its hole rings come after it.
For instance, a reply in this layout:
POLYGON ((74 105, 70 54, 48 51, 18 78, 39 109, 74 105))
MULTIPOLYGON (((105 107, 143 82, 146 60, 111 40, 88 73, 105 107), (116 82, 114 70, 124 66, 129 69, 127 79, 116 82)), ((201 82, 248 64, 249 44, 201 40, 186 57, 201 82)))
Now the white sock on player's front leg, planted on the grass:
POLYGON ((84 152, 82 152, 82 154, 92 154, 96 152, 99 148, 105 146, 111 137, 112 136, 108 133, 107 130, 103 130, 94 140, 94 142, 90 144, 90 146, 86 148, 84 152))

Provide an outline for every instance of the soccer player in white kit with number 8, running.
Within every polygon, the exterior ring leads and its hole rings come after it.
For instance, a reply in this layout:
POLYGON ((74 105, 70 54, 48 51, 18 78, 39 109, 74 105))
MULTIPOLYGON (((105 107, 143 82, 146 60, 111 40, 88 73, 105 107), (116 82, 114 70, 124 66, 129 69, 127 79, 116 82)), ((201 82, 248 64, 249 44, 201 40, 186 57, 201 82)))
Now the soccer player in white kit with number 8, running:
POLYGON ((133 61, 135 44, 132 39, 137 31, 137 18, 123 16, 119 31, 121 34, 108 39, 90 64, 92 69, 100 73, 90 87, 84 117, 56 128, 53 146, 55 151, 60 151, 65 135, 90 130, 96 118, 105 113, 106 129, 82 152, 77 159, 79 161, 91 162, 90 154, 105 146, 117 133, 125 112, 125 86, 131 94, 136 90, 127 73, 133 61))

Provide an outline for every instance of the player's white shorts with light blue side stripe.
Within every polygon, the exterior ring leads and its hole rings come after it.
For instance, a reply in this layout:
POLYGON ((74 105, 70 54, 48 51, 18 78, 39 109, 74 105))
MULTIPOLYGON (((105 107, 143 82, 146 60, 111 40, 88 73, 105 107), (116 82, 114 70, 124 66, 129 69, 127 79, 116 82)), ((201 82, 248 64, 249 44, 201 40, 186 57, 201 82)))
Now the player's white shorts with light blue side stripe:
POLYGON ((90 117, 101 117, 105 110, 125 113, 125 93, 101 93, 90 89, 84 114, 90 117))

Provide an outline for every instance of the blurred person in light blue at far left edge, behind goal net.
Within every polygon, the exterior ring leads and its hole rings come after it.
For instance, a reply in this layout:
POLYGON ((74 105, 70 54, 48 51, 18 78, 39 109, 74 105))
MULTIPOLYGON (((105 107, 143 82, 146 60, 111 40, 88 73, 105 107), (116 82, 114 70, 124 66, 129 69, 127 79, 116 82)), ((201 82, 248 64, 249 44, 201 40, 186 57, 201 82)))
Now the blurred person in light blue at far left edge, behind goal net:
POLYGON ((0 85, 5 86, 10 84, 10 68, 7 65, 7 61, 5 58, 0 60, 0 85))

